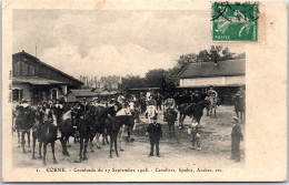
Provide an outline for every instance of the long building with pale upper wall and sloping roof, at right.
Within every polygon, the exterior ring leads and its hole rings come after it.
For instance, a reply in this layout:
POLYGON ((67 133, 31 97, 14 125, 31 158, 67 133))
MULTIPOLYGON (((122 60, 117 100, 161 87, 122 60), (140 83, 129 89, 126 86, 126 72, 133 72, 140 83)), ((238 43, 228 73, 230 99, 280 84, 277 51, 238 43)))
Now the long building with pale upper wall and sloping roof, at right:
POLYGON ((246 60, 190 63, 180 73, 180 86, 185 90, 206 92, 210 85, 218 92, 221 104, 232 104, 232 97, 246 84, 246 60))

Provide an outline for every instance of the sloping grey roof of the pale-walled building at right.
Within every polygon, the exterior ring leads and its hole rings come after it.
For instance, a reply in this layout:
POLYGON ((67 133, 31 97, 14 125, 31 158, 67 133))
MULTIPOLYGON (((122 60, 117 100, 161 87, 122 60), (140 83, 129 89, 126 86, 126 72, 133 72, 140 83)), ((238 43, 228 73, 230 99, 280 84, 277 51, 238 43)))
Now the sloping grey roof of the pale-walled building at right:
POLYGON ((219 61, 216 66, 213 62, 190 63, 180 72, 180 79, 209 78, 209 76, 232 76, 245 75, 246 60, 219 61))

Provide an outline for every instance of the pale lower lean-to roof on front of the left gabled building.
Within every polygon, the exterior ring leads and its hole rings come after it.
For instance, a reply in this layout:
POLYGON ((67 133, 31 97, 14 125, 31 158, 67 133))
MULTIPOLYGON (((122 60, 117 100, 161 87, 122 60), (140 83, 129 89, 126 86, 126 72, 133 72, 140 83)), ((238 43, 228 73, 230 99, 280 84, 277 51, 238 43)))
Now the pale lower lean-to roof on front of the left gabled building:
POLYGON ((30 83, 32 85, 63 84, 63 82, 38 76, 13 76, 12 83, 30 83))

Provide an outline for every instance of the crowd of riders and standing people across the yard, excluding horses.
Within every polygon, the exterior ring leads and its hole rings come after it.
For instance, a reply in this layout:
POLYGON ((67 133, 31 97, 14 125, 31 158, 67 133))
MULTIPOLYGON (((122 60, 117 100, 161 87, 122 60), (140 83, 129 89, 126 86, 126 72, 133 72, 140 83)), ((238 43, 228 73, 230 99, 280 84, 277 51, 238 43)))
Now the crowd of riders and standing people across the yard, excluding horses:
MULTIPOLYGON (((243 91, 239 91, 237 96, 245 97, 243 91)), ((44 122, 51 123, 52 127, 58 127, 61 119, 66 116, 67 111, 76 111, 81 110, 86 112, 90 106, 102 106, 102 107, 113 107, 116 112, 122 110, 122 113, 117 113, 117 115, 127 114, 129 112, 137 112, 138 114, 146 114, 148 119, 149 126, 147 129, 147 133, 150 135, 150 144, 151 151, 149 156, 153 155, 153 147, 156 146, 157 156, 160 156, 159 153, 159 141, 162 137, 161 124, 157 122, 158 115, 160 111, 163 111, 165 120, 168 121, 168 116, 166 114, 171 111, 177 117, 179 111, 179 106, 181 104, 196 104, 200 101, 209 100, 212 104, 217 104, 218 93, 213 90, 212 86, 206 93, 201 93, 199 91, 189 91, 189 92, 176 92, 168 94, 160 94, 159 92, 153 92, 149 90, 147 93, 140 92, 137 96, 134 94, 121 93, 118 96, 110 97, 94 97, 91 102, 82 99, 80 102, 74 103, 66 103, 62 100, 57 100, 56 102, 41 102, 36 106, 29 105, 27 100, 22 100, 18 102, 16 110, 13 111, 13 117, 27 117, 24 114, 29 114, 30 111, 36 110, 38 113, 43 116, 44 122), (50 112, 48 110, 51 110, 50 112), (126 110, 128 112, 126 112, 126 110)), ((177 119, 175 119, 176 121, 177 119)), ((13 122, 14 123, 14 122, 13 122)), ((242 140, 242 134, 240 126, 238 126, 239 120, 238 117, 233 117, 233 129, 232 129, 232 158, 240 161, 240 152, 239 152, 239 143, 242 140)), ((29 124, 29 122, 28 122, 29 124)), ((13 125, 13 130, 21 131, 18 127, 19 124, 13 125)), ((28 126, 29 127, 29 126, 28 126)), ((175 126, 170 132, 175 133, 175 126)), ((57 133, 57 132, 56 132, 57 133)), ((201 150, 200 147, 200 132, 199 132, 199 123, 196 120, 192 120, 190 125, 190 134, 192 137, 192 148, 201 150)))

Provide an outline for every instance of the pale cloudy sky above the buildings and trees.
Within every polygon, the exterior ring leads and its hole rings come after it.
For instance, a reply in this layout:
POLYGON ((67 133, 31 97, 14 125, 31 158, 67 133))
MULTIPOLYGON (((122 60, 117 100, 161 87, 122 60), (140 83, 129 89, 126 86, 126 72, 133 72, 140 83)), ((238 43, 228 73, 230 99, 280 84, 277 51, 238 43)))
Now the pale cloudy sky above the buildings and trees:
POLYGON ((13 53, 36 55, 37 45, 41 61, 76 78, 143 76, 212 44, 202 10, 14 10, 12 27, 13 53))

